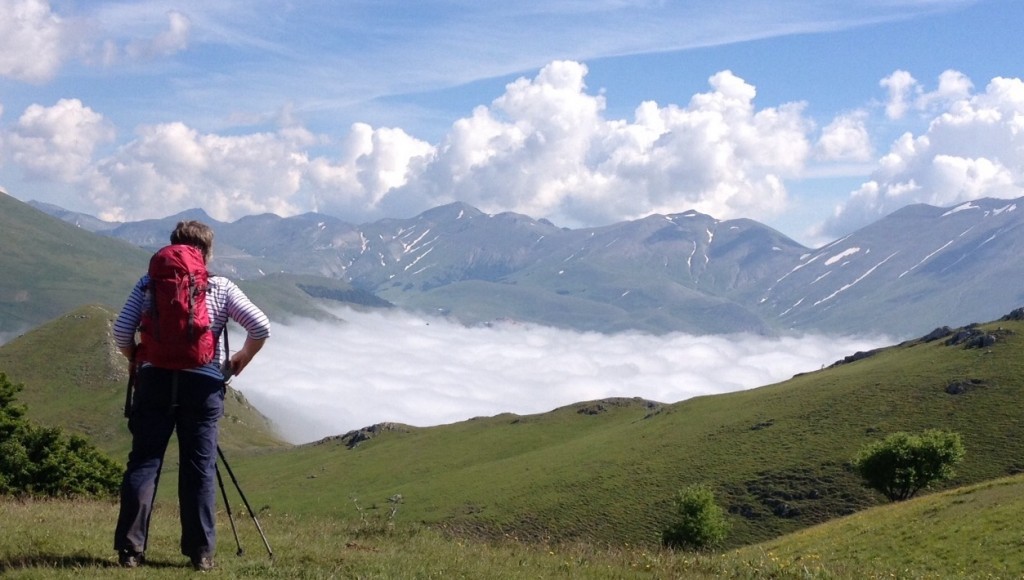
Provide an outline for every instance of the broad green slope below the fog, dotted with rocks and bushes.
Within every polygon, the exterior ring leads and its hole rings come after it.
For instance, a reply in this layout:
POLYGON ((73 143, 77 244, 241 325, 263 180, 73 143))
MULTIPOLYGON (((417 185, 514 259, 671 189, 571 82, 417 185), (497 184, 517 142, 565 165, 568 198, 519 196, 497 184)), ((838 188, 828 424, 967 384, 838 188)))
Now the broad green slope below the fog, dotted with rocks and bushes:
POLYGON ((1024 325, 996 327, 984 349, 906 343, 742 392, 399 428, 354 450, 328 441, 238 469, 282 512, 353 517, 352 498, 400 494, 404 517, 460 533, 613 545, 655 545, 673 494, 708 483, 730 512, 729 545, 752 544, 882 501, 848 463, 897 430, 963 436, 967 458, 948 486, 1018 471, 1024 325), (952 382, 967 391, 947 392, 952 382))

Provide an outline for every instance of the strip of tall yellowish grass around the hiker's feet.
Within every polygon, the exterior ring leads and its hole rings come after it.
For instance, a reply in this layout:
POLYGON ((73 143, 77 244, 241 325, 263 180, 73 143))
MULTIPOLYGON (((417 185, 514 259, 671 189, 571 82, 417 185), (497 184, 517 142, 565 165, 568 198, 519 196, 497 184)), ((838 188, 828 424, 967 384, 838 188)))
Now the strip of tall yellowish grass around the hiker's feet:
MULTIPOLYGON (((179 555, 173 507, 157 508, 146 563, 121 570, 111 548, 117 506, 111 502, 0 501, 5 540, 0 573, 11 578, 179 578, 191 575, 179 555)), ((233 578, 716 578, 715 556, 647 548, 540 545, 513 538, 481 542, 443 530, 371 520, 258 515, 273 550, 268 556, 252 521, 236 513, 237 555, 226 516, 218 522, 215 573, 233 578)))

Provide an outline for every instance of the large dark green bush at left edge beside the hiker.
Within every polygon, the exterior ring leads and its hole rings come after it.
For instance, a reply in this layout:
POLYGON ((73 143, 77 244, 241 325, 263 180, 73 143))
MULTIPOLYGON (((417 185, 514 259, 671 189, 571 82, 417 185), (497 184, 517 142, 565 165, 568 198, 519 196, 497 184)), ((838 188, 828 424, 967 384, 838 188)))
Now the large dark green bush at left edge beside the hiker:
POLYGON ((0 373, 0 495, 116 494, 120 465, 81 437, 30 423, 15 403, 19 390, 0 373))

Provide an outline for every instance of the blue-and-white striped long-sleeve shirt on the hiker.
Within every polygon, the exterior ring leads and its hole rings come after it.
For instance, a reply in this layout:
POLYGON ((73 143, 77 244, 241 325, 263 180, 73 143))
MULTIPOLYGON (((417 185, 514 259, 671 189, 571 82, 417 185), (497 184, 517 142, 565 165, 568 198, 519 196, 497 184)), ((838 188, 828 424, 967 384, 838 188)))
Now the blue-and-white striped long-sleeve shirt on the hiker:
MULTIPOLYGON (((135 344, 135 331, 142 320, 142 312, 148 307, 145 288, 150 284, 150 276, 142 278, 132 288, 131 294, 121 308, 114 323, 114 341, 119 348, 127 348, 135 344)), ((253 304, 249 297, 230 280, 221 276, 211 276, 206 292, 206 308, 210 313, 210 330, 215 337, 227 325, 228 319, 237 322, 246 330, 249 338, 259 340, 270 336, 270 321, 253 304)), ((214 378, 223 378, 220 374, 220 362, 224 359, 221 351, 223 342, 217 340, 213 362, 188 372, 196 372, 214 378)))

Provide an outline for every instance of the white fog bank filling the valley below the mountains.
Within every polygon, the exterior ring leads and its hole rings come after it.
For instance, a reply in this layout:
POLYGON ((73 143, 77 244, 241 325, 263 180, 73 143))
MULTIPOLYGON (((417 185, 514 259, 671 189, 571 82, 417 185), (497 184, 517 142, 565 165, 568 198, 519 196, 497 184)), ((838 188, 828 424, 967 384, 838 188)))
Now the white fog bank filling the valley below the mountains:
POLYGON ((385 421, 431 426, 609 397, 676 403, 779 382, 891 343, 823 335, 605 335, 519 324, 467 328, 399 313, 339 315, 347 322, 275 324, 233 382, 292 443, 385 421))

